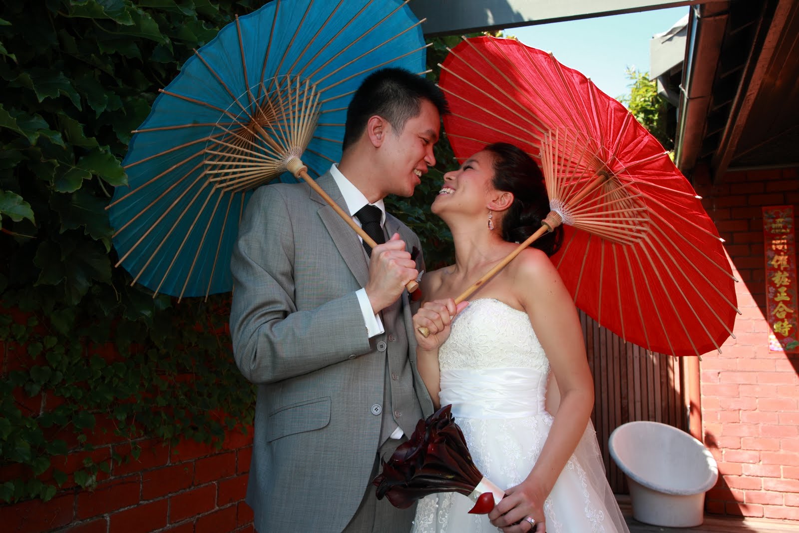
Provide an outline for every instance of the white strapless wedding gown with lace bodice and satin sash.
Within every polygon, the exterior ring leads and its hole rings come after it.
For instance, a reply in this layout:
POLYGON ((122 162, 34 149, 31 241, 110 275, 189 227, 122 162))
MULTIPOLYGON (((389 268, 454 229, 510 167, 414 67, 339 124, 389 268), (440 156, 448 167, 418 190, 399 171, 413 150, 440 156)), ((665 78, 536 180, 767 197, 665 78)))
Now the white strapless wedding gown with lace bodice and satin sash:
MULTIPOLYGON (((478 299, 460 312, 439 350, 441 405, 463 431, 475 466, 500 488, 530 474, 552 426, 544 409, 550 366, 527 313, 478 299)), ((471 533, 497 528, 474 503, 445 492, 419 500, 413 533, 471 533)), ((605 478, 591 424, 544 503, 547 533, 627 532, 605 478)))

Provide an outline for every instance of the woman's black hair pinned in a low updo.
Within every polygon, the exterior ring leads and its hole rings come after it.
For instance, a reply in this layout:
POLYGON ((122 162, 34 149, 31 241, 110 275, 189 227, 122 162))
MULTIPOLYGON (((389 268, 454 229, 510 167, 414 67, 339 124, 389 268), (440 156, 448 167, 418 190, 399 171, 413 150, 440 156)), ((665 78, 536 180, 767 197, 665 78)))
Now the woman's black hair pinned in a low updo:
MULTIPOLYGON (((502 219, 502 238, 508 242, 523 242, 541 227, 550 212, 547 186, 543 173, 533 158, 507 142, 495 142, 485 150, 494 158, 494 188, 513 193, 513 204, 502 219)), ((563 241, 563 228, 544 233, 531 246, 547 256, 558 251, 563 241)))

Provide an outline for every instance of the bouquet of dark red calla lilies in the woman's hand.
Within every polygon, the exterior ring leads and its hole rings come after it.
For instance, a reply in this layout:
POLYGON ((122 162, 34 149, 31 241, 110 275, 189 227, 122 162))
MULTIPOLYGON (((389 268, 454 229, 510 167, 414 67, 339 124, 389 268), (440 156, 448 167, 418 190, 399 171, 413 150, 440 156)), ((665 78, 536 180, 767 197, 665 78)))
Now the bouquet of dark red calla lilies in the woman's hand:
POLYGON ((383 461, 373 481, 377 499, 385 496, 394 507, 406 509, 428 494, 459 492, 475 502, 470 513, 484 515, 503 499, 502 489, 483 477, 471 460, 451 405, 419 420, 411 438, 383 461))

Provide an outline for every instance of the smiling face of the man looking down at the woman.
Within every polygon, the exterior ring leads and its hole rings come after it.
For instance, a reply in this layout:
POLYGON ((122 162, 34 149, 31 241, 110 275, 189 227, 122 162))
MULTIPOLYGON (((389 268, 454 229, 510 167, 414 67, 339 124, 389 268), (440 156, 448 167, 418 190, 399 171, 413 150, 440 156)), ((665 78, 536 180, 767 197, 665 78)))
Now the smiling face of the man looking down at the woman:
POLYGON ((387 123, 380 146, 386 194, 413 195, 422 175, 435 165, 433 145, 439 140, 440 124, 438 109, 428 100, 421 101, 419 114, 407 119, 399 132, 387 123))

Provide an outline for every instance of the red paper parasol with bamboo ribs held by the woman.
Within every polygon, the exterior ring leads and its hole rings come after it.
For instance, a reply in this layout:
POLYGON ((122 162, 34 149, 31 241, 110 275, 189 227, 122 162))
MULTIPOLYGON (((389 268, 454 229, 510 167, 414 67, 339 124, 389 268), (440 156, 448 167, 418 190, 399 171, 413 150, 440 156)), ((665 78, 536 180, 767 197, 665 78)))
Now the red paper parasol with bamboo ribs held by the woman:
POLYGON ((547 225, 565 225, 552 260, 579 308, 622 339, 674 356, 718 349, 733 334, 734 278, 718 232, 666 150, 622 104, 515 39, 464 39, 441 69, 456 157, 503 141, 539 162, 547 225))

